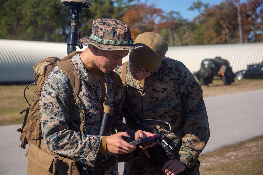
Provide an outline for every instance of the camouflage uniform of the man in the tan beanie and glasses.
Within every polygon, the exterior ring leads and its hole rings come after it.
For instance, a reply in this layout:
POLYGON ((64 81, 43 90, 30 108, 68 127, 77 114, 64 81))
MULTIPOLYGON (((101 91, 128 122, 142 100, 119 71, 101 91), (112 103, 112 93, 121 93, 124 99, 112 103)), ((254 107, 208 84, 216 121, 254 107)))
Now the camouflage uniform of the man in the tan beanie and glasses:
MULTIPOLYGON (((122 77, 122 66, 115 71, 122 77)), ((125 99, 136 116, 168 122, 171 125, 168 144, 174 148, 175 158, 187 166, 183 172, 200 174, 197 157, 210 134, 203 90, 193 74, 183 63, 166 57, 144 86, 132 77, 128 64, 126 85, 125 99)), ((168 125, 158 121, 142 120, 142 123, 148 131, 155 128, 162 133, 169 131, 168 125)), ((144 153, 142 157, 146 165, 139 174, 163 174, 162 165, 154 167, 144 153)), ((124 174, 130 174, 134 165, 136 160, 126 162, 124 174)))

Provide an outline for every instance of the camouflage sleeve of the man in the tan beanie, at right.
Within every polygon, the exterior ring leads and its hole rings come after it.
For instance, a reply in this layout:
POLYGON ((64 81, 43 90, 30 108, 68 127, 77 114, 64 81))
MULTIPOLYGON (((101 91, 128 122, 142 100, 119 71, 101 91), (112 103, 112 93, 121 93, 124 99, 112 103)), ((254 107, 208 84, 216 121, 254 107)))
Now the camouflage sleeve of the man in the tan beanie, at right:
POLYGON ((184 74, 181 79, 178 79, 177 84, 179 84, 178 88, 182 96, 182 107, 186 118, 182 146, 176 158, 191 168, 208 142, 210 132, 202 97, 203 90, 189 70, 183 72, 184 74))

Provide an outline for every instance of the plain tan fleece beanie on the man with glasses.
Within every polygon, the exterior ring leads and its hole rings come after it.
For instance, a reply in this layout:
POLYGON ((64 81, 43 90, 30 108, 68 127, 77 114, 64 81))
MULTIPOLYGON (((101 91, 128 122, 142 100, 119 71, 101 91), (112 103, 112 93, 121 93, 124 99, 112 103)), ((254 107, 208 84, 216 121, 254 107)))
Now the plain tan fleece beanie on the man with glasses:
POLYGON ((158 33, 144 32, 137 36, 134 44, 143 47, 130 51, 130 62, 145 70, 156 72, 168 50, 165 39, 158 33))

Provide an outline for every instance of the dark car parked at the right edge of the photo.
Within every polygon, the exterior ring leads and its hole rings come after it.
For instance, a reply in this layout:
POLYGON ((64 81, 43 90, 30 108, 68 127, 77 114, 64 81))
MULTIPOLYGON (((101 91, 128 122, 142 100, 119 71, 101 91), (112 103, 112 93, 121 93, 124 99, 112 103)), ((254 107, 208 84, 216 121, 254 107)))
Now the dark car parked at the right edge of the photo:
POLYGON ((243 78, 263 79, 263 62, 255 65, 247 65, 247 70, 236 72, 235 77, 238 80, 243 78))

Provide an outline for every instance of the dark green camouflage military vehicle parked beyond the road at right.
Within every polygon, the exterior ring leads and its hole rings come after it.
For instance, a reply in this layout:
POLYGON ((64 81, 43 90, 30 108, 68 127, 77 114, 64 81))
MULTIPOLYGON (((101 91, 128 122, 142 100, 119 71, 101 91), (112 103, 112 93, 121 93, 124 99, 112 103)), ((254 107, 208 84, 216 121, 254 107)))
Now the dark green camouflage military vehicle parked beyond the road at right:
POLYGON ((201 63, 201 68, 194 75, 199 80, 200 85, 208 85, 212 83, 215 77, 222 79, 225 85, 234 82, 234 73, 229 62, 215 57, 215 59, 205 59, 201 63))

